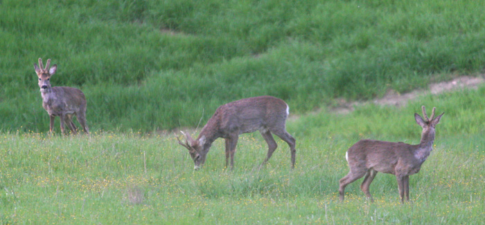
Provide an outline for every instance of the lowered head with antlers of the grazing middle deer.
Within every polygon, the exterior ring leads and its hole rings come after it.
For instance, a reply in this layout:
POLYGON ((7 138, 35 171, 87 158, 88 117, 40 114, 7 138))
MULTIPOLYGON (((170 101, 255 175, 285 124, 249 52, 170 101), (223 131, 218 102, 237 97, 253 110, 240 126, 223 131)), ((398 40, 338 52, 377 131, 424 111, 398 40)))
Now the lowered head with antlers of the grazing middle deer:
POLYGON ((185 143, 180 141, 179 137, 177 140, 181 146, 184 146, 188 149, 188 153, 191 155, 192 160, 194 161, 194 169, 198 170, 201 166, 204 165, 206 161, 206 155, 208 152, 208 146, 205 146, 205 138, 202 136, 201 138, 194 140, 192 139, 191 135, 180 131, 185 136, 185 143))

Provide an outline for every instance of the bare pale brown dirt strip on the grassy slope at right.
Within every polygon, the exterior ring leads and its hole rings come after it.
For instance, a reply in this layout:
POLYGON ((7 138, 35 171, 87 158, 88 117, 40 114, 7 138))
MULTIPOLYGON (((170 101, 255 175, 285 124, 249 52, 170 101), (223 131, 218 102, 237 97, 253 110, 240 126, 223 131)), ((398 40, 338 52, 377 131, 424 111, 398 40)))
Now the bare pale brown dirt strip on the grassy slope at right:
POLYGON ((480 84, 485 82, 484 75, 480 75, 477 77, 471 76, 464 76, 464 77, 457 77, 452 79, 451 81, 443 81, 440 83, 430 84, 427 90, 413 90, 412 92, 407 92, 405 94, 399 94, 394 90, 388 90, 384 97, 380 99, 375 99, 373 101, 367 102, 360 102, 360 101, 353 101, 353 102, 346 102, 344 99, 339 101, 339 106, 335 108, 330 108, 330 113, 335 114, 347 114, 351 113, 354 110, 355 106, 367 104, 372 102, 373 104, 380 105, 380 106, 405 106, 408 101, 414 100, 417 97, 423 95, 438 95, 443 92, 449 92, 453 90, 459 90, 463 88, 471 88, 476 89, 480 84))

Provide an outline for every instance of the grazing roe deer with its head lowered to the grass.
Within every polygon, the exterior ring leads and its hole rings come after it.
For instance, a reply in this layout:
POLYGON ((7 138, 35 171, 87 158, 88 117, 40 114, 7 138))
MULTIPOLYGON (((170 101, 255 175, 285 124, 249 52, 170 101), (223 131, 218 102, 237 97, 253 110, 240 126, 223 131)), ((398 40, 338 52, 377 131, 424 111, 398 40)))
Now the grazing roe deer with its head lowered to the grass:
POLYGON ((240 99, 228 104, 219 106, 214 115, 207 121, 207 124, 200 131, 199 137, 193 140, 185 134, 185 143, 178 139, 179 144, 188 149, 193 161, 194 169, 198 170, 204 165, 206 155, 215 139, 222 137, 226 141, 226 167, 229 156, 231 157, 231 169, 234 168, 234 153, 238 137, 243 133, 252 133, 259 130, 267 142, 267 157, 263 166, 276 149, 276 141, 272 133, 286 141, 290 146, 291 163, 294 168, 296 151, 296 140, 286 132, 286 118, 288 118, 289 107, 285 101, 271 96, 251 97, 240 99))

